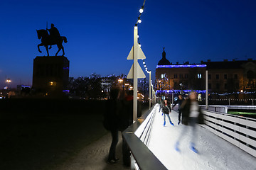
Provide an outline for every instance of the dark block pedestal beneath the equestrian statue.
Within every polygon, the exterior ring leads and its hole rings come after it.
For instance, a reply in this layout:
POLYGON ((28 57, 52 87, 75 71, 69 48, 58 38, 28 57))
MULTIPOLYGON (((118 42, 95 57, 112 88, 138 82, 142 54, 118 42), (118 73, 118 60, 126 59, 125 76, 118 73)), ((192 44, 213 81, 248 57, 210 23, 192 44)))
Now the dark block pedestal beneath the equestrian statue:
POLYGON ((43 96, 60 96, 68 86, 69 60, 64 56, 37 56, 33 60, 33 89, 43 96))

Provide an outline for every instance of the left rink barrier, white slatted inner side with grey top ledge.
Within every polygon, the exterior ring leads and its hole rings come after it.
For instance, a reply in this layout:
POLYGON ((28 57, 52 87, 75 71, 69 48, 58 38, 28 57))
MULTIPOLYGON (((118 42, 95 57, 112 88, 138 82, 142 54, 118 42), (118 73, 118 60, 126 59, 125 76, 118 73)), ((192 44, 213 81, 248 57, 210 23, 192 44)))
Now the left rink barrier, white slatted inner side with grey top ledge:
POLYGON ((149 143, 151 125, 154 121, 156 106, 122 132, 124 140, 132 154, 131 169, 142 170, 166 170, 166 167, 156 158, 156 156, 146 146, 149 143))

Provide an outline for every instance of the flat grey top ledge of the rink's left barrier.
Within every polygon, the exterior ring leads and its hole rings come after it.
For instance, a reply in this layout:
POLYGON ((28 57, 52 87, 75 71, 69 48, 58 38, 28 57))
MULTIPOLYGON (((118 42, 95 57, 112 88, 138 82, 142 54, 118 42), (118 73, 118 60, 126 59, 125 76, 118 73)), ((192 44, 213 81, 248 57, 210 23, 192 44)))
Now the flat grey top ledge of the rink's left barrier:
MULTIPOLYGON (((155 106, 154 106, 155 107, 155 106)), ((153 110, 152 107, 147 113, 138 118, 135 123, 133 123, 129 128, 122 132, 124 140, 127 142, 127 145, 134 157, 139 169, 142 170, 166 170, 164 164, 162 164, 159 159, 149 150, 148 147, 142 142, 142 140, 134 134, 134 132, 139 128, 140 125, 146 120, 147 116, 153 110)))

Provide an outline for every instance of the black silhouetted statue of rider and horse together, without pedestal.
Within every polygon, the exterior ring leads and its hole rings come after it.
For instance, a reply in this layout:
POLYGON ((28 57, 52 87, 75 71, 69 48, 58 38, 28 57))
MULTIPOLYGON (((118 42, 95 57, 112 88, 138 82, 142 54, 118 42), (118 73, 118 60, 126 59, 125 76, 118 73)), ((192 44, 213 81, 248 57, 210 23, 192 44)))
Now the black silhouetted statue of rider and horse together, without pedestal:
POLYGON ((47 30, 36 30, 36 32, 38 34, 38 39, 41 39, 41 42, 42 42, 41 44, 38 44, 38 51, 41 52, 40 46, 45 46, 47 55, 49 56, 48 45, 50 45, 50 48, 51 48, 51 45, 57 45, 58 51, 55 54, 55 56, 58 55, 58 52, 60 52, 60 50, 63 50, 63 56, 64 56, 65 52, 64 52, 64 47, 63 47, 62 43, 63 43, 63 41, 65 43, 67 43, 68 42, 67 38, 60 36, 58 29, 55 28, 53 23, 51 24, 51 28, 47 29, 47 30), (49 30, 50 35, 48 34, 47 30, 49 30))

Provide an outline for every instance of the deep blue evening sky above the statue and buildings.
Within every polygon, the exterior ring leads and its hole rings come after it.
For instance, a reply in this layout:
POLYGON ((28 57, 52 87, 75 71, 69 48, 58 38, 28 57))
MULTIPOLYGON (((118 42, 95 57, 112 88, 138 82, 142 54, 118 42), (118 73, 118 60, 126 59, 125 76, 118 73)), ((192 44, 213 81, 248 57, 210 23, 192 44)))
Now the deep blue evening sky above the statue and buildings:
MULTIPOLYGON (((132 60, 126 58, 143 1, 1 1, 0 87, 6 76, 13 86, 32 84, 33 59, 41 55, 36 29, 45 29, 46 21, 68 38, 70 77, 128 74, 132 60)), ((162 47, 170 62, 256 60, 255 9, 255 0, 146 0, 139 41, 152 77, 162 47)))

